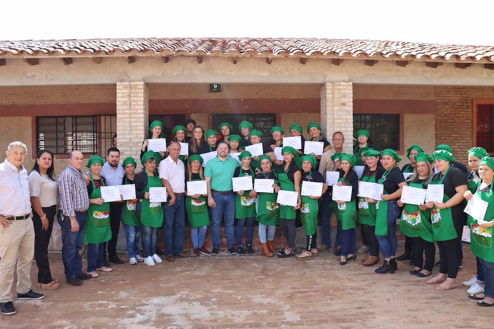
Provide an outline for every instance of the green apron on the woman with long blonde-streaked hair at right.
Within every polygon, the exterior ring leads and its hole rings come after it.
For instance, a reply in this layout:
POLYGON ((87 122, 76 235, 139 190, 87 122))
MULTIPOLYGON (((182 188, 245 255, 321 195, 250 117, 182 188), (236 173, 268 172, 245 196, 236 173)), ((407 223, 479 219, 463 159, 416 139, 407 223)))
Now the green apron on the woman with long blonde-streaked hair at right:
MULTIPOLYGON (((422 183, 409 183, 408 186, 423 189, 422 183)), ((432 225, 429 222, 431 211, 420 210, 417 205, 405 204, 400 219, 400 233, 411 238, 422 238, 434 242, 432 225)))

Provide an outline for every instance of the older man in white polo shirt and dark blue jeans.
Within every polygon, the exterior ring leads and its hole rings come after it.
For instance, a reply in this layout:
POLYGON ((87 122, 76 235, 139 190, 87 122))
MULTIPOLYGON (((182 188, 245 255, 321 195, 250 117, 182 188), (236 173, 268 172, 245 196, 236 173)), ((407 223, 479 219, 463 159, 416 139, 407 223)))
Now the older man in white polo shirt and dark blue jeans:
POLYGON ((185 166, 178 159, 180 144, 172 142, 168 146, 168 157, 160 162, 158 168, 163 186, 168 193, 168 202, 164 204, 163 240, 167 261, 175 257, 187 258, 183 252, 185 238, 185 166))

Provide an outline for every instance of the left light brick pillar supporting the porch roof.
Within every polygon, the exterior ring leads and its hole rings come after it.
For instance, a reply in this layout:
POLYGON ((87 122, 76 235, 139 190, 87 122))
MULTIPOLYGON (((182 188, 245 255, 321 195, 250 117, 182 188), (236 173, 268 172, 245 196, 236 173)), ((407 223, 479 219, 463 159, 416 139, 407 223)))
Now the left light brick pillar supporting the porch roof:
POLYGON ((140 166, 142 141, 148 137, 148 86, 142 81, 117 82, 117 143, 121 161, 132 157, 140 166))

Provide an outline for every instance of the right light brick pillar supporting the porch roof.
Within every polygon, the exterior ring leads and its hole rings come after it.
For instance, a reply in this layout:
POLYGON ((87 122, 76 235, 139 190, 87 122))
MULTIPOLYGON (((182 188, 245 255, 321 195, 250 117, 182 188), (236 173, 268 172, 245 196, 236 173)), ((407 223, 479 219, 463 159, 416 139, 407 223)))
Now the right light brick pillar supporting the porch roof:
POLYGON ((345 136, 343 152, 353 152, 353 85, 352 82, 326 82, 321 88, 321 127, 332 147, 332 134, 345 136))

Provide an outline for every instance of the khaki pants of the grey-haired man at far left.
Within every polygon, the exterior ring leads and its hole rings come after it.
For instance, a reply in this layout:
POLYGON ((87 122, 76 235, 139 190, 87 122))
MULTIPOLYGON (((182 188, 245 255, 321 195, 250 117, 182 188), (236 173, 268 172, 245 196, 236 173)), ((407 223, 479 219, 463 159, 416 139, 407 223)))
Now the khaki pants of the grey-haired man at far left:
POLYGON ((31 218, 13 220, 0 226, 0 302, 12 301, 12 284, 17 264, 17 292, 31 289, 31 262, 34 257, 34 227, 31 218))

